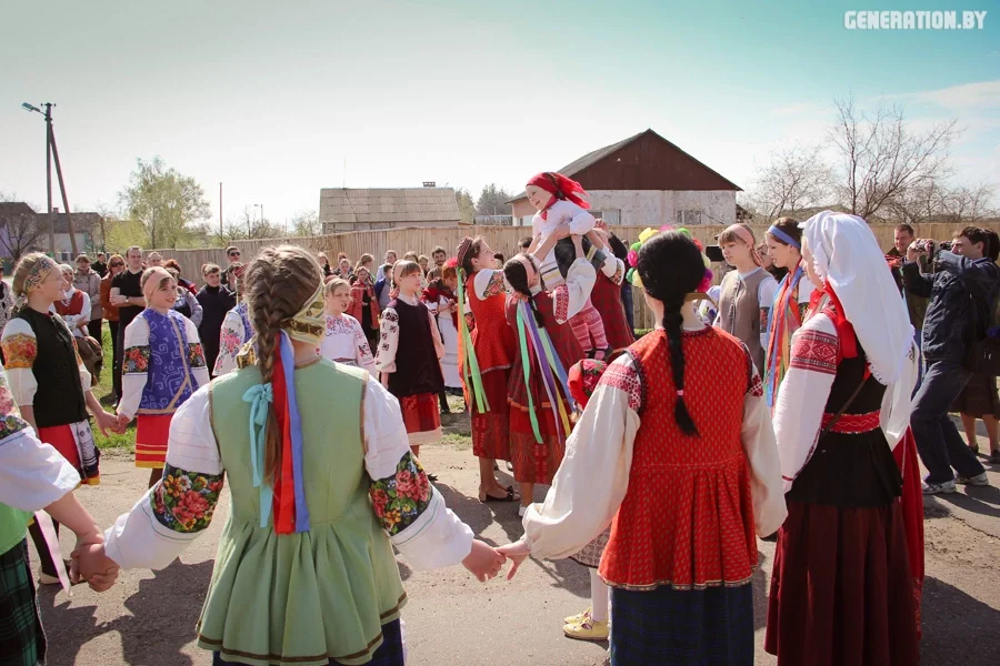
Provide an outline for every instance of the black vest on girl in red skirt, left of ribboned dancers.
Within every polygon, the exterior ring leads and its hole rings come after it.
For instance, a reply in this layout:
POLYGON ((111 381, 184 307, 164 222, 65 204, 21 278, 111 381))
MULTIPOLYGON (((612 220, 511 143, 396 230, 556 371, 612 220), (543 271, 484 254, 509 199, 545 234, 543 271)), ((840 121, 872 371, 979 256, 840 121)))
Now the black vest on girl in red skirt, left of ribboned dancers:
POLYGON ((444 387, 441 364, 434 350, 427 305, 410 305, 393 300, 389 307, 399 315, 399 347, 396 350, 396 372, 389 374, 389 392, 396 397, 433 393, 444 387))

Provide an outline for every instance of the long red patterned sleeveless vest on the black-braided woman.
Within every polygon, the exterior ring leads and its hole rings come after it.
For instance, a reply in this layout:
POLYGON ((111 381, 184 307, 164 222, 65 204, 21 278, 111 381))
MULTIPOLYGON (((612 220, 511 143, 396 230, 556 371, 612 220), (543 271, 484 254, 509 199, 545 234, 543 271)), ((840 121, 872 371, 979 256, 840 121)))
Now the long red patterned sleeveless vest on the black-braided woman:
POLYGON ((743 398, 761 386, 743 345, 717 329, 683 336, 684 402, 699 435, 673 420, 677 389, 663 331, 629 347, 642 387, 629 488, 601 576, 613 586, 749 583, 757 564, 743 398))

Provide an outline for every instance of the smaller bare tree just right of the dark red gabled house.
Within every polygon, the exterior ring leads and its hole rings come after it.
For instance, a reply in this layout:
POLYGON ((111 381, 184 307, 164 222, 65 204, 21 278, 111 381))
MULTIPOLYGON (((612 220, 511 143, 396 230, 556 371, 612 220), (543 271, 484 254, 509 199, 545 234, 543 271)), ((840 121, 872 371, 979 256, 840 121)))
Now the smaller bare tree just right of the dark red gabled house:
POLYGON ((771 151, 754 179, 751 201, 757 212, 773 220, 782 212, 822 205, 832 192, 833 172, 821 147, 793 145, 771 151))

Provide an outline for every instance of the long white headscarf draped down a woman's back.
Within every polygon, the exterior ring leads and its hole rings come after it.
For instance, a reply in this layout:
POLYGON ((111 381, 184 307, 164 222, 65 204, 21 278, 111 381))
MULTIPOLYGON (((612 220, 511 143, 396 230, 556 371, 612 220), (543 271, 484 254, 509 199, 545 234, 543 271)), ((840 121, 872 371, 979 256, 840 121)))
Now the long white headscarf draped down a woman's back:
POLYGON ((833 287, 879 383, 896 383, 908 363, 913 326, 868 223, 823 211, 799 225, 812 263, 833 287))

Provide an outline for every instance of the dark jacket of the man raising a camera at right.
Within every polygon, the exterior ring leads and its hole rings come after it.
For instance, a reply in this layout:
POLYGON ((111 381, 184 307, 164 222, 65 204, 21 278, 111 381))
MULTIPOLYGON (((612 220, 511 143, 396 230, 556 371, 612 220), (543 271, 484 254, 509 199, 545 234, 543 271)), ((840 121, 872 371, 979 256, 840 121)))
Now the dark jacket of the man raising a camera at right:
POLYGON ((961 363, 972 341, 973 303, 977 337, 991 324, 1000 293, 1000 266, 989 258, 969 260, 947 251, 934 259, 938 272, 932 274, 921 274, 917 262, 906 262, 903 280, 907 290, 930 299, 923 317, 924 357, 961 363))

